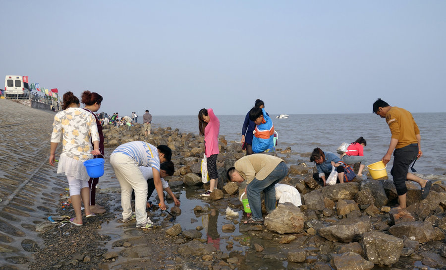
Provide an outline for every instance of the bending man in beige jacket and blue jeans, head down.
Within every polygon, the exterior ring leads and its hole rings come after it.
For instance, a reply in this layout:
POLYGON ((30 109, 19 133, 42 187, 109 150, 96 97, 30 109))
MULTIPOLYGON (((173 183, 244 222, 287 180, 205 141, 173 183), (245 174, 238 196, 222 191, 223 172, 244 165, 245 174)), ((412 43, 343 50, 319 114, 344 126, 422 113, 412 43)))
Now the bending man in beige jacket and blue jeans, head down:
POLYGON ((263 224, 260 193, 265 193, 265 206, 268 212, 276 208, 274 185, 288 174, 288 167, 279 157, 266 154, 253 154, 240 158, 234 167, 227 171, 227 179, 232 182, 246 180, 245 193, 248 196, 252 217, 243 224, 263 224))

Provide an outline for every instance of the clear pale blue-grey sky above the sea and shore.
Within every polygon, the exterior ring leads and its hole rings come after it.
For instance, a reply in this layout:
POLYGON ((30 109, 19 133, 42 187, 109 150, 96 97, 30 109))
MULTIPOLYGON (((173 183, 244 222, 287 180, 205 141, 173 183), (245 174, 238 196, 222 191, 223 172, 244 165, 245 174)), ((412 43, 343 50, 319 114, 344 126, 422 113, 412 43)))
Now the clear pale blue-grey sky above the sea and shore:
POLYGON ((446 112, 446 1, 2 0, 0 74, 140 116, 446 112))

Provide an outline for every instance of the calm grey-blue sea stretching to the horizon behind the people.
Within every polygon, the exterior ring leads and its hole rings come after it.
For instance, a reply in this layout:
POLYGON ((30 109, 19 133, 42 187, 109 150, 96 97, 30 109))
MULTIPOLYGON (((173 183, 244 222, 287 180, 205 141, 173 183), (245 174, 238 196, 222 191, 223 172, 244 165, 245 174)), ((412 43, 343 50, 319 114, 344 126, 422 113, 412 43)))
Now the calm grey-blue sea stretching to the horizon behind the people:
MULTIPOLYGON (((239 141, 245 115, 217 117, 220 119, 220 135, 227 141, 239 141)), ((381 160, 390 143, 390 130, 385 119, 372 113, 299 114, 290 115, 288 119, 276 119, 276 115, 271 114, 271 117, 279 134, 278 148, 290 146, 298 153, 311 152, 315 147, 336 153, 342 142, 352 142, 363 136, 367 140, 364 155, 371 164, 381 160)), ((423 150, 423 157, 416 161, 414 168, 421 174, 445 174, 446 113, 414 113, 413 117, 420 128, 423 150)), ((154 116, 153 126, 178 128, 180 132, 198 135, 197 116, 154 116)))

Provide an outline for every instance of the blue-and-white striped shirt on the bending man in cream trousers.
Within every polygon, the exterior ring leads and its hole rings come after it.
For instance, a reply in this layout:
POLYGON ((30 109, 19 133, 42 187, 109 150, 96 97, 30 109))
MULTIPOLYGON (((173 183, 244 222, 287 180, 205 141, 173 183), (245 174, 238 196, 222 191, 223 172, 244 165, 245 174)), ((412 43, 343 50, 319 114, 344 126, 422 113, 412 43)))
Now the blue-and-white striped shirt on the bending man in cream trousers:
POLYGON ((130 141, 119 145, 111 155, 121 153, 133 158, 138 166, 150 166, 160 171, 160 157, 157 147, 144 141, 130 141))

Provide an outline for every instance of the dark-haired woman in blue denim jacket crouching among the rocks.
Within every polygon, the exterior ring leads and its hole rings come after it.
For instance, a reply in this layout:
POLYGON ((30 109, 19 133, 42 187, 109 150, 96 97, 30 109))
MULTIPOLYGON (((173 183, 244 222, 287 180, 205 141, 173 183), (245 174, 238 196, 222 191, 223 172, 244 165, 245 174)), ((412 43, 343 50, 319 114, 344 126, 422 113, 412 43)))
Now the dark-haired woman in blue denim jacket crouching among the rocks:
POLYGON ((324 152, 321 148, 314 148, 313 153, 311 153, 310 161, 316 163, 317 173, 313 174, 313 178, 316 181, 324 182, 324 187, 326 186, 326 180, 332 172, 332 166, 336 167, 337 178, 339 183, 344 183, 344 167, 340 158, 337 157, 335 153, 324 152))

